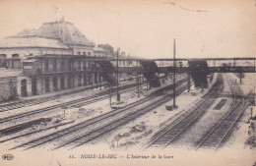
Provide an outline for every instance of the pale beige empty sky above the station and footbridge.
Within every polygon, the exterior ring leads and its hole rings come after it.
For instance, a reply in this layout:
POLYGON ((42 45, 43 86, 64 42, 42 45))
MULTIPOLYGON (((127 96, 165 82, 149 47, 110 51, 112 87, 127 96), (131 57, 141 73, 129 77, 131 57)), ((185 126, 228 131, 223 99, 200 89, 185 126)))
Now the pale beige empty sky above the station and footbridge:
POLYGON ((0 0, 0 38, 65 18, 142 58, 255 57, 256 0, 0 0))

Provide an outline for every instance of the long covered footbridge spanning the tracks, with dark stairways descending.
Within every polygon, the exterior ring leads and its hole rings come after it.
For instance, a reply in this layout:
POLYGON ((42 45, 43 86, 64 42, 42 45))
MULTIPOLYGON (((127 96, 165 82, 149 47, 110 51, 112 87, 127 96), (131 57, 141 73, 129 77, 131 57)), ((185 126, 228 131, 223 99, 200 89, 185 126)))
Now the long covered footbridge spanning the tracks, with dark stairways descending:
MULTIPOLYGON (((208 84, 206 76, 211 73, 237 73, 242 76, 243 73, 255 73, 255 58, 195 58, 195 59, 175 59, 176 67, 174 69, 173 59, 139 59, 139 58, 98 58, 87 57, 84 55, 47 55, 34 56, 32 60, 23 61, 23 73, 27 77, 54 77, 68 76, 67 84, 60 77, 60 87, 63 89, 72 86, 73 82, 82 84, 98 83, 104 81, 112 85, 117 84, 116 76, 125 74, 127 77, 138 77, 143 75, 152 87, 160 86, 160 74, 172 75, 175 73, 186 73, 192 77, 199 86, 206 87, 208 84), (62 58, 61 61, 56 59, 62 58), (47 63, 46 63, 47 62, 47 63), (55 65, 54 65, 55 62, 55 65), (118 62, 118 66, 117 66, 118 62), (200 65, 200 63, 202 63, 200 65), (49 63, 49 64, 48 64, 49 63), (53 65, 51 65, 53 64, 53 65), (197 65, 199 67, 197 68, 197 65), (47 70, 46 70, 47 69, 47 70), (74 77, 75 76, 75 77, 74 77), (74 77, 74 78, 73 78, 74 77), (81 79, 82 77, 82 79, 81 79), (202 77, 201 79, 199 79, 202 77)), ((54 79, 53 78, 53 79, 54 79)), ((240 77, 241 79, 242 77, 240 77)), ((120 79, 120 78, 119 78, 120 79)), ((138 78, 137 78, 138 80, 138 78)), ((39 83, 39 82, 38 82, 39 83)), ((53 87, 58 85, 58 81, 53 83, 53 87), (57 85, 56 85, 57 84, 57 85)), ((76 83, 77 84, 77 83, 76 83)), ((47 85, 47 84, 46 84, 47 85)))

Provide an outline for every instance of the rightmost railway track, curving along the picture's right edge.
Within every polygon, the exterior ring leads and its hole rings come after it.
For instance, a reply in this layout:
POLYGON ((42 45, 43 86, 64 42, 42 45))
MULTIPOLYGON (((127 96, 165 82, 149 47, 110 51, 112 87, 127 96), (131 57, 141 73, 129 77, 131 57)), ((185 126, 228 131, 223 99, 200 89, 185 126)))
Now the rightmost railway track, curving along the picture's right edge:
POLYGON ((220 148, 245 110, 247 106, 245 96, 243 95, 240 87, 237 84, 233 84, 229 84, 233 94, 233 102, 229 111, 224 115, 224 118, 212 130, 210 130, 205 138, 197 144, 195 149, 208 148, 217 150, 220 148))

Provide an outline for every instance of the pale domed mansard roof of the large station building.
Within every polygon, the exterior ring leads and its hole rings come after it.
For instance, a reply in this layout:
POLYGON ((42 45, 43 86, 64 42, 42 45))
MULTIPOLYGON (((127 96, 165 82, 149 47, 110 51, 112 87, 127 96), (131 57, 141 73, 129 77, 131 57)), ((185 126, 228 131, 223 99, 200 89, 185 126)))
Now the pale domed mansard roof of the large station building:
POLYGON ((69 49, 73 45, 94 47, 95 44, 72 23, 44 23, 38 29, 23 29, 14 36, 0 41, 1 48, 12 47, 47 47, 69 49))

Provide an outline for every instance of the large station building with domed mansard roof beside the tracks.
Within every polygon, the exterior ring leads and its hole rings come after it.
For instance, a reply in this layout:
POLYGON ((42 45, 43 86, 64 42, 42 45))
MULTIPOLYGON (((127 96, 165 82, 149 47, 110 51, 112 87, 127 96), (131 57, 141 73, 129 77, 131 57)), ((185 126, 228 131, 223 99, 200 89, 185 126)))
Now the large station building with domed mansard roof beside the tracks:
POLYGON ((0 70, 22 71, 13 81, 18 96, 106 83, 93 61, 99 57, 113 55, 64 21, 44 23, 35 30, 25 29, 0 42, 0 70))

